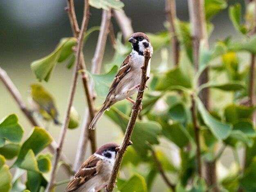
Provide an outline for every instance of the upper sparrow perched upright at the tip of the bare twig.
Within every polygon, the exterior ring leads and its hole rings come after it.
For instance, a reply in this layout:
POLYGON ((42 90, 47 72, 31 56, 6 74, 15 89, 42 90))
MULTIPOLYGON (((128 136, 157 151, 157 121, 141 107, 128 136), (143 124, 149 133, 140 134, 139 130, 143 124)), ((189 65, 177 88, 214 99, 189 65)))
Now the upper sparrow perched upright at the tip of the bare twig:
MULTIPOLYGON (((128 40, 132 44, 132 52, 126 57, 117 72, 112 85, 110 86, 105 102, 99 109, 89 129, 95 129, 99 119, 106 110, 117 103, 117 101, 128 99, 135 104, 135 101, 129 97, 139 90, 141 82, 141 66, 144 63, 144 50, 149 49, 150 54, 153 54, 153 47, 150 44, 148 36, 144 33, 133 33, 128 40)), ((147 76, 150 73, 150 60, 148 62, 147 76)))

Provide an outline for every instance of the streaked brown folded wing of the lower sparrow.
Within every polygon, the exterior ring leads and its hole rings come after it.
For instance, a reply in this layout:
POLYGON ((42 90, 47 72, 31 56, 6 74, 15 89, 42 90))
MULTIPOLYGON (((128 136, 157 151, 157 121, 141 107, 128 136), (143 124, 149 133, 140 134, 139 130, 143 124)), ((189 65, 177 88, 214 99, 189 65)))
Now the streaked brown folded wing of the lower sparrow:
POLYGON ((97 175, 101 166, 102 160, 99 157, 94 155, 90 156, 80 167, 72 181, 67 185, 65 192, 72 192, 78 189, 80 185, 97 175))

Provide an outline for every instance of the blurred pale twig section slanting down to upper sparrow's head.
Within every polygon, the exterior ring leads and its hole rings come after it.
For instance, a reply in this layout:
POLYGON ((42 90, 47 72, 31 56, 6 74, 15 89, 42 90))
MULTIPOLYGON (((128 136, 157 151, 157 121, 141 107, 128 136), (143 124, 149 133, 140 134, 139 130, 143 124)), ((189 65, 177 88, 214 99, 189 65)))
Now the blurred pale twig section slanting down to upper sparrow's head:
POLYGON ((119 25, 124 35, 124 40, 128 39, 130 35, 134 33, 132 29, 132 21, 126 16, 124 12, 120 12, 117 10, 113 10, 113 12, 115 15, 115 19, 117 20, 117 24, 119 25))

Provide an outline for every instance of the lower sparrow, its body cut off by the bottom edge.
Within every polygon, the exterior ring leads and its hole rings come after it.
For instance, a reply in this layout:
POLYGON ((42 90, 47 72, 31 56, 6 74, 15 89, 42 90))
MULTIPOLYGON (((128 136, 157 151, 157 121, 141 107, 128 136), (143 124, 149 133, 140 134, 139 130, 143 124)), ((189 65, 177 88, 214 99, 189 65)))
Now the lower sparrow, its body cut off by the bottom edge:
POLYGON ((95 192, 102 189, 113 170, 117 147, 117 143, 102 145, 83 163, 65 192, 95 192))

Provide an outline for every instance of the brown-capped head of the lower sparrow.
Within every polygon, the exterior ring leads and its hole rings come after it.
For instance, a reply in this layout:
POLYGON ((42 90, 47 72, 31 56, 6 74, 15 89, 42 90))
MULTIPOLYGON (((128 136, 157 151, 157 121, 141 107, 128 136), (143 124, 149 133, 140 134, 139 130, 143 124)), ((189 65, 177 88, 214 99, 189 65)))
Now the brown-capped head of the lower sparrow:
POLYGON ((102 145, 95 153, 105 156, 108 159, 114 160, 117 155, 118 147, 119 147, 119 145, 117 143, 106 143, 106 144, 102 145))

